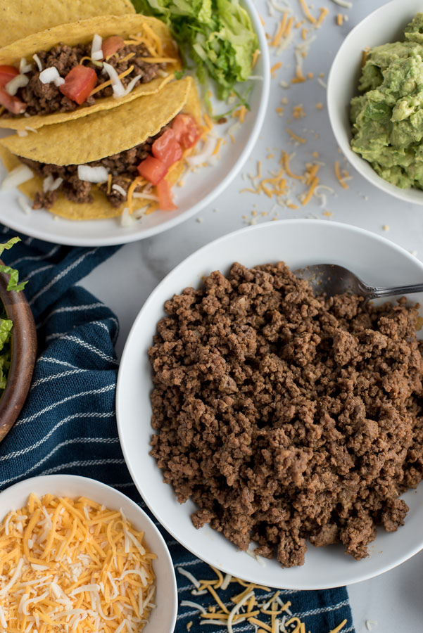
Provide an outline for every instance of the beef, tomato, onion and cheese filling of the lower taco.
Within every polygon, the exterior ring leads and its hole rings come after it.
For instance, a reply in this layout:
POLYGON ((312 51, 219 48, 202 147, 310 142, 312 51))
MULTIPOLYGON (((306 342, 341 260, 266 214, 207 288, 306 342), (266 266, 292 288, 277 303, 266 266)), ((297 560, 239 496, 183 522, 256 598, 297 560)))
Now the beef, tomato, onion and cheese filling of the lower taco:
POLYGON ((19 157, 43 179, 43 190, 35 194, 32 208, 50 209, 60 193, 74 203, 92 203, 93 187, 97 187, 113 207, 120 207, 128 197, 147 196, 161 210, 175 210, 166 176, 200 136, 194 118, 179 113, 144 143, 86 165, 52 165, 19 157))

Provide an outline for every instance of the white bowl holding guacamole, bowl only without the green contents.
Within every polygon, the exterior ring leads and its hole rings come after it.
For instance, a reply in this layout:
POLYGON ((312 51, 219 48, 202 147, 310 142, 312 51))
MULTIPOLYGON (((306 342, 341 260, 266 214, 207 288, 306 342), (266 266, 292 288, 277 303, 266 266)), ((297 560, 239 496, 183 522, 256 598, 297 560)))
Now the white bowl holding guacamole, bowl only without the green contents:
POLYGON ((350 101, 358 94, 362 51, 404 39, 404 28, 422 11, 421 0, 392 0, 362 20, 344 39, 336 53, 327 82, 327 110, 339 147, 351 165, 377 188, 394 198, 423 205, 423 191, 401 189, 381 178, 370 162, 351 149, 350 101))

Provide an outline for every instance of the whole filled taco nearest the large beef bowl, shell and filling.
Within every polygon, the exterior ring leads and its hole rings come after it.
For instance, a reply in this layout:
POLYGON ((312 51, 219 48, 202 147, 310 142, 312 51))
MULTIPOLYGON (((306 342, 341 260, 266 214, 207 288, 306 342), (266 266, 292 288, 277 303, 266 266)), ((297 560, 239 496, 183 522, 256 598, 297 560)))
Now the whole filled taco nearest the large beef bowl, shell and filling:
POLYGON ((0 157, 9 172, 30 168, 20 189, 34 208, 100 219, 121 215, 125 207, 176 209, 170 188, 201 134, 198 94, 187 77, 165 86, 160 98, 149 95, 37 134, 7 136, 0 157))

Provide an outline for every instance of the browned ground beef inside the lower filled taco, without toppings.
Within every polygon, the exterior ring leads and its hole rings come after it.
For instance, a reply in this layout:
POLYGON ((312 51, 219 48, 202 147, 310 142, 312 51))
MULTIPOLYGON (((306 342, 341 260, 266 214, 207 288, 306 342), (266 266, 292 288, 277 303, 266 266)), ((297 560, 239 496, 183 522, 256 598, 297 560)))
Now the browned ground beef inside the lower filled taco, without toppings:
MULTIPOLYGON (((72 202, 91 203, 93 201, 91 193, 91 188, 93 186, 98 186, 99 189, 103 191, 104 195, 113 207, 119 207, 123 202, 125 202, 125 200, 127 200, 127 191, 130 187, 131 181, 139 175, 137 171, 139 163, 151 154, 151 146, 154 141, 156 141, 156 139, 158 139, 165 130, 168 129, 168 127, 169 124, 163 126, 156 136, 150 136, 146 141, 144 141, 144 143, 132 147, 125 152, 120 152, 118 154, 114 154, 113 156, 107 156, 102 160, 94 160, 93 162, 87 163, 90 167, 99 167, 100 165, 102 167, 106 167, 109 174, 112 174, 110 191, 108 191, 107 182, 93 185, 91 182, 80 180, 78 178, 77 165, 51 165, 50 163, 37 162, 37 160, 31 160, 30 158, 23 158, 20 156, 19 160, 25 163, 25 165, 28 165, 34 174, 37 174, 37 176, 42 179, 49 175, 53 176, 54 179, 63 178, 61 186, 59 186, 55 191, 47 191, 46 193, 38 191, 34 198, 32 208, 51 209, 53 204, 56 202, 60 191, 63 193, 65 198, 72 200, 72 202), (122 192, 114 189, 113 185, 122 187, 122 189, 125 190, 125 196, 123 196, 122 192)), ((138 189, 136 188, 135 191, 138 191, 138 189)))

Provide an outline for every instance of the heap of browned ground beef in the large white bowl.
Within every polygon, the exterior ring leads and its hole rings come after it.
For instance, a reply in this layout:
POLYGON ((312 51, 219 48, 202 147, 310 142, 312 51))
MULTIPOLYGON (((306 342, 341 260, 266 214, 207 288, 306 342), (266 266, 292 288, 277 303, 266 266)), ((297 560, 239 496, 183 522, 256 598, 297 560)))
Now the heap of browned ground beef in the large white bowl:
POLYGON ((291 567, 306 539, 359 559, 376 525, 403 525, 423 473, 417 306, 315 298, 284 263, 234 264, 165 312, 151 455, 196 528, 291 567))

